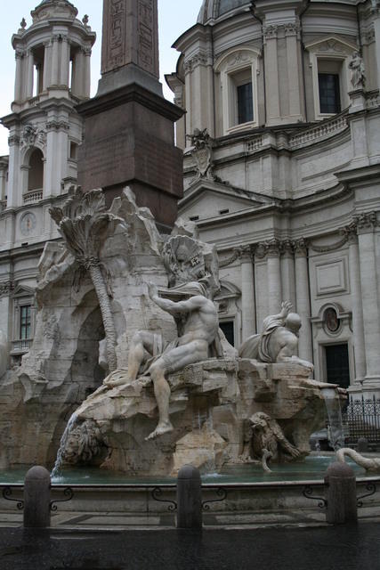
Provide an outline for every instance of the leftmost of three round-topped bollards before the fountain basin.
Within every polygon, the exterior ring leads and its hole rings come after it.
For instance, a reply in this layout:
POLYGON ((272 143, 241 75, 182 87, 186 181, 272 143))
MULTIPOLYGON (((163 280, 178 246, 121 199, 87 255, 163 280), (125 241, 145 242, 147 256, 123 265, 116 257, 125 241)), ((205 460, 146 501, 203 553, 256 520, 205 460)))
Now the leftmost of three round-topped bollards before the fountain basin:
POLYGON ((24 527, 50 526, 50 473, 44 467, 32 467, 24 483, 24 527))

